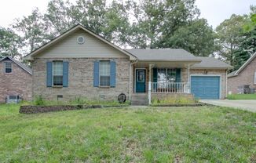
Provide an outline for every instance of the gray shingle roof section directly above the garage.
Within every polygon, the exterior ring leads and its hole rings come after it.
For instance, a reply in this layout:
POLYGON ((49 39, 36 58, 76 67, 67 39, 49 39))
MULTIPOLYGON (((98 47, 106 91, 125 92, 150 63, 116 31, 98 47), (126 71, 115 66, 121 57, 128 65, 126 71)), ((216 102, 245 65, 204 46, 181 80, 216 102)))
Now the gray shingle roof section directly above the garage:
POLYGON ((228 63, 222 62, 221 60, 218 60, 214 57, 197 56, 196 58, 199 58, 200 60, 202 60, 202 62, 194 64, 191 68, 216 68, 216 69, 232 68, 232 66, 230 66, 228 63))

